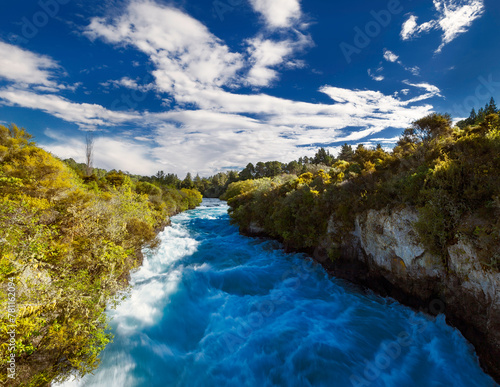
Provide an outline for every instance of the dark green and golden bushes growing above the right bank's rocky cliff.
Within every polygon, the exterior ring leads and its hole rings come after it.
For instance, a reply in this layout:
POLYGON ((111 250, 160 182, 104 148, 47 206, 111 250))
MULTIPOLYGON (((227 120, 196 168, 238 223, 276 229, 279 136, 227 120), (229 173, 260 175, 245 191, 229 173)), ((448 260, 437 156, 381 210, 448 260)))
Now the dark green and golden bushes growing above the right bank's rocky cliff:
MULTIPOLYGON (((411 206, 421 241, 447 263, 458 236, 475 242, 485 268, 500 269, 500 119, 494 101, 460 126, 431 114, 403 132, 397 146, 325 152, 315 172, 232 183, 224 199, 234 223, 254 225, 295 249, 315 247, 333 216, 339 240, 367 209, 411 206)), ((334 258, 338 251, 331 251, 334 258)))

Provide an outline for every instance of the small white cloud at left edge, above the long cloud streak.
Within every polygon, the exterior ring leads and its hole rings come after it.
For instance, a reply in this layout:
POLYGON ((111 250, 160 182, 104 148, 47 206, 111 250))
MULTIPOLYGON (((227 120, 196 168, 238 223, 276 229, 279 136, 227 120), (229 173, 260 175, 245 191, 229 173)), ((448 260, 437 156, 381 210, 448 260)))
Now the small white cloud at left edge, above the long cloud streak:
POLYGON ((57 90, 51 70, 59 65, 51 58, 0 41, 0 78, 18 85, 38 85, 57 90))

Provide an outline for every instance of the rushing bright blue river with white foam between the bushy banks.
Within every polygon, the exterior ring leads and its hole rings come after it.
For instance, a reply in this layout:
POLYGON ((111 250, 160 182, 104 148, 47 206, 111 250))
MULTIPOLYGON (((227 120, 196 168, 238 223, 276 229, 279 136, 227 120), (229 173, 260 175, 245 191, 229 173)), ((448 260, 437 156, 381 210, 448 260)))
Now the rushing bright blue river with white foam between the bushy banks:
POLYGON ((239 235, 224 202, 205 199, 160 237, 108 311, 100 367, 64 386, 497 386, 442 316, 239 235))

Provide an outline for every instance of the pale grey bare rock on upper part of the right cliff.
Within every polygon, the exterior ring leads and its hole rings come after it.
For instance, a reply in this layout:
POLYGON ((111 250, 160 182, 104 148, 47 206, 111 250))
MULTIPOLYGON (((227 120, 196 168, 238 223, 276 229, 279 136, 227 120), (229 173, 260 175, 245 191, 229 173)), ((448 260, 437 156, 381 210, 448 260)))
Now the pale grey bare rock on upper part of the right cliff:
MULTIPOLYGON (((356 218, 353 235, 359 239, 364 253, 373 262, 394 274, 411 277, 445 277, 452 275, 464 289, 483 293, 488 302, 500 303, 500 273, 485 269, 475 248, 465 240, 459 240, 448 248, 449 262, 446 273, 440 257, 427 252, 418 239, 414 224, 418 214, 408 208, 392 211, 370 210, 356 218), (399 272, 399 273, 398 273, 399 272)), ((329 229, 334 230, 334 222, 329 229)))

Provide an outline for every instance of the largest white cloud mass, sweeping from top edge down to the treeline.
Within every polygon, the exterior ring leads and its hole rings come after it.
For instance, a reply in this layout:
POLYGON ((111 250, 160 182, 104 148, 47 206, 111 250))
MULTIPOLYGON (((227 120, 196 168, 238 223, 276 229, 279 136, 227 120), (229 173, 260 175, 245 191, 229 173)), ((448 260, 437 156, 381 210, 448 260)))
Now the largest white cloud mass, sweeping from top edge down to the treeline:
MULTIPOLYGON (((269 85, 280 66, 302 66, 291 56, 311 44, 310 38, 294 32, 296 39, 274 41, 259 34, 246 42, 248 51, 231 52, 200 22, 151 1, 132 1, 114 19, 93 19, 86 34, 144 53, 154 69, 153 83, 146 86, 154 88, 166 104, 175 99, 175 108, 163 113, 117 112, 13 87, 0 89, 0 99, 84 128, 135 127, 133 133, 121 133, 120 140, 99 137, 103 145, 96 158, 96 165, 134 173, 164 169, 179 175, 187 171, 209 175, 224 167, 244 167, 249 161, 289 161, 307 154, 315 144, 362 140, 389 127, 407 127, 432 111, 430 104, 416 102, 439 95, 439 90, 436 93, 423 84, 412 85, 417 95, 408 100, 330 85, 319 89, 331 98, 330 103, 238 94, 236 89, 243 85, 269 85), (353 127, 358 131, 346 129, 353 127)), ((381 76, 381 71, 374 74, 381 76)), ((140 83, 124 77, 105 86, 137 89, 140 83)), ((64 136, 47 146, 61 157, 81 152, 80 144, 64 136)))

